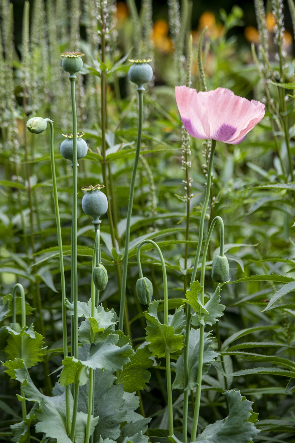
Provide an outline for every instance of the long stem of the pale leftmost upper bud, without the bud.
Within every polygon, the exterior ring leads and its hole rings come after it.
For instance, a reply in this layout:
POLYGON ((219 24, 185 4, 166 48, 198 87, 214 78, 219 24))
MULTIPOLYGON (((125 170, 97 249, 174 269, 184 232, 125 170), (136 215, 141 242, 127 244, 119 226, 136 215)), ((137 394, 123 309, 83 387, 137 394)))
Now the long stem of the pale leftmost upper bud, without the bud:
MULTIPOLYGON (((62 344, 64 350, 64 358, 68 356, 68 333, 67 333, 67 314, 66 314, 66 291, 65 291, 65 269, 64 257, 62 253, 62 238, 61 238, 61 219, 59 215, 58 197, 57 197, 57 183, 54 163, 54 125, 49 118, 45 121, 49 123, 50 127, 50 163, 51 175, 54 193, 54 209, 57 228, 57 243, 59 252, 59 265, 61 268, 61 317, 62 317, 62 344)), ((69 435, 71 431, 71 412, 70 412, 70 389, 69 385, 65 386, 65 410, 66 410, 66 430, 69 435)))

